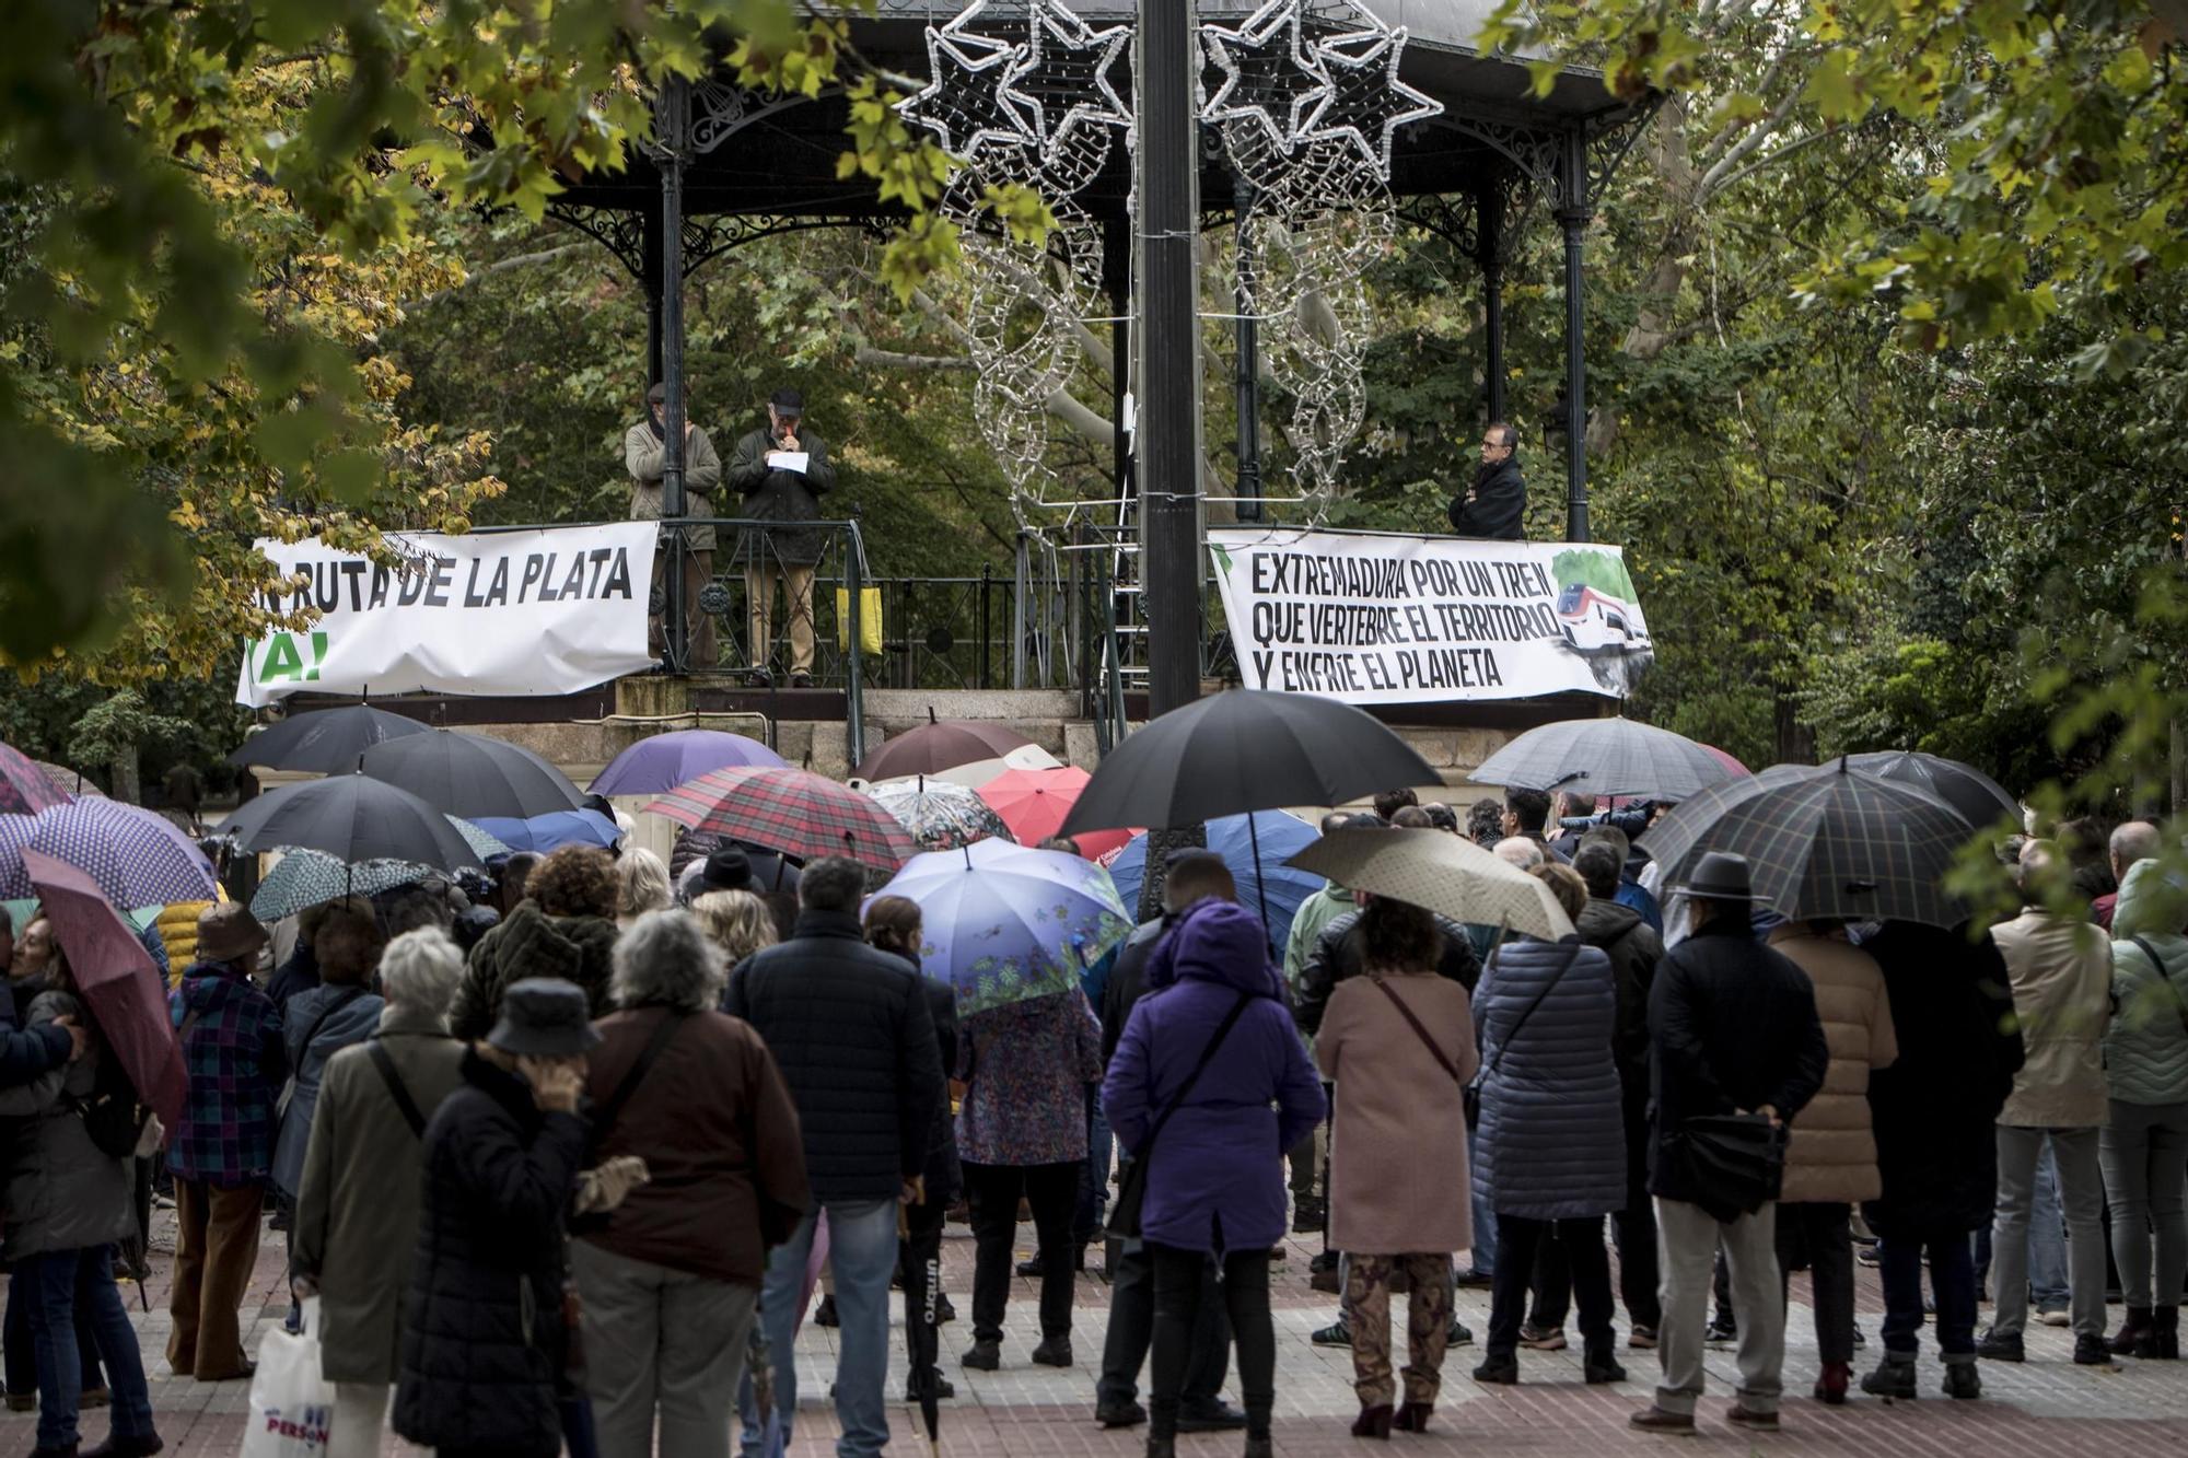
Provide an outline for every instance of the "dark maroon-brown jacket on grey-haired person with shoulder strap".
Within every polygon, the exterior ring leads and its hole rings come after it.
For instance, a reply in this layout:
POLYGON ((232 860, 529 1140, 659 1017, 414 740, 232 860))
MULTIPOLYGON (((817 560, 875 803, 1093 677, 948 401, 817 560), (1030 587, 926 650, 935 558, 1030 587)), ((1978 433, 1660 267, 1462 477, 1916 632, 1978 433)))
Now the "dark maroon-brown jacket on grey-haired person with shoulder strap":
MULTIPOLYGON (((586 1079, 595 1108, 665 1016, 665 1007, 635 1007, 595 1022, 602 1042, 586 1079)), ((729 1014, 685 1014, 595 1162, 617 1154, 643 1158, 652 1178, 584 1239, 632 1261, 759 1285, 768 1246, 812 1206, 790 1088, 753 1025, 729 1014)))

